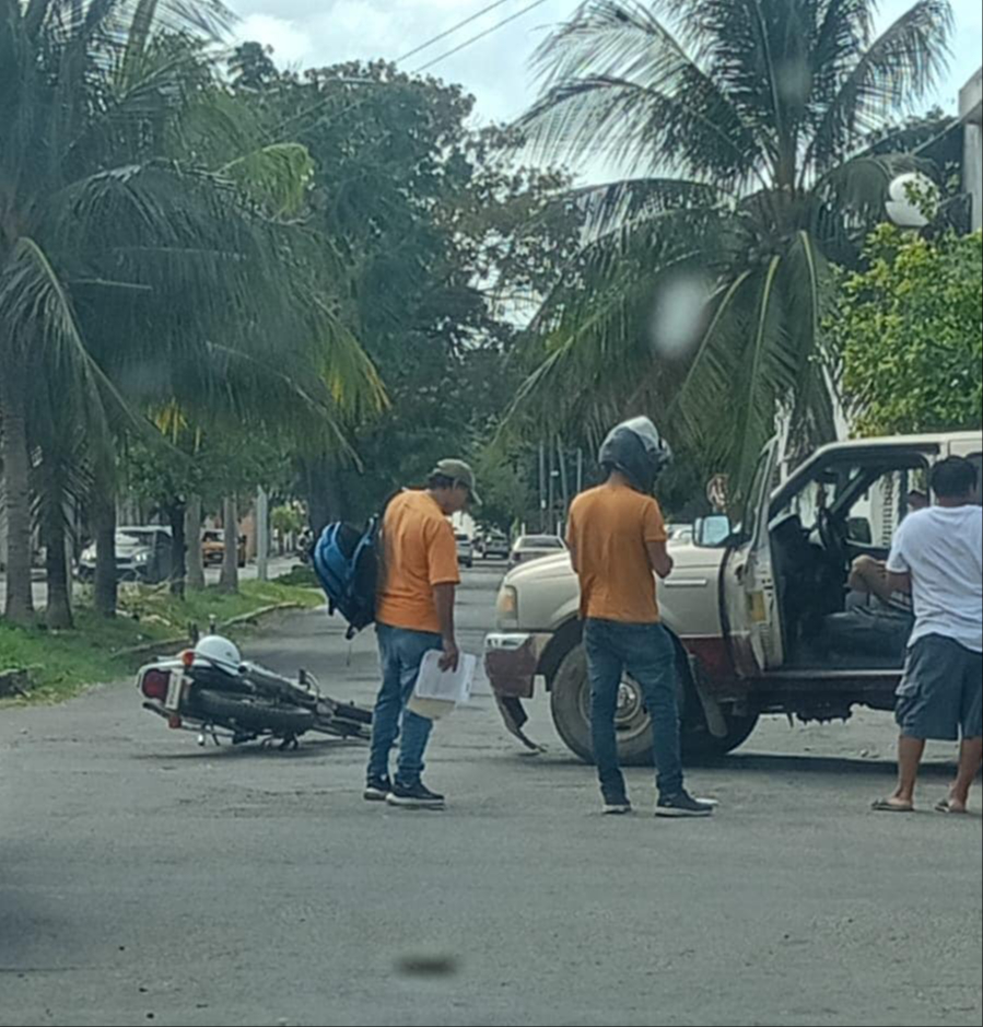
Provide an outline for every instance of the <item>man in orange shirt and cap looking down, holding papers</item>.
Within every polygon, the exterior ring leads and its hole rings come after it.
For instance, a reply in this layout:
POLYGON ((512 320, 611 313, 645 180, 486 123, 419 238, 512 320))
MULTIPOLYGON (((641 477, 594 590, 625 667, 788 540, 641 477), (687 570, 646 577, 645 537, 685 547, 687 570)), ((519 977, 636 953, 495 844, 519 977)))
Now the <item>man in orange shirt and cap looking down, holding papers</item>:
POLYGON ((433 721, 408 710, 423 657, 443 651, 441 667, 457 669, 454 597, 460 584, 457 542, 447 520, 479 502, 475 472, 463 460, 442 460, 423 491, 394 499, 383 520, 383 573, 376 608, 383 687, 372 719, 372 756, 365 798, 393 806, 440 809, 444 796, 422 780, 433 721), (400 730, 399 768, 389 754, 400 730))

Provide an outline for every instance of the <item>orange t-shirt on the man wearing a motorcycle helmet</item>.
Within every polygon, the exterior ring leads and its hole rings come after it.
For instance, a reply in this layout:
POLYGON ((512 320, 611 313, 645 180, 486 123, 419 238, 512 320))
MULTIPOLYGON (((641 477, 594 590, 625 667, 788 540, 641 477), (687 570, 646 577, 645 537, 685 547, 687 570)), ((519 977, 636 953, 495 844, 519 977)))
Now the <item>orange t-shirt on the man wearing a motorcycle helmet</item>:
POLYGON ((581 579, 581 616, 629 625, 659 621, 647 542, 668 539, 658 503, 627 486, 578 495, 567 539, 581 579))

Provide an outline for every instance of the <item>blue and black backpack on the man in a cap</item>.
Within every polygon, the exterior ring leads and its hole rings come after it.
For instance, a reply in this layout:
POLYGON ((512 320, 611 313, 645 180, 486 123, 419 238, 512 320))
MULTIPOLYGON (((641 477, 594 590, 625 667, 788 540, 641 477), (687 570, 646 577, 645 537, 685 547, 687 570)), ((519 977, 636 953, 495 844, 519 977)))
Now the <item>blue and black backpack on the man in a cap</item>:
POLYGON ((375 622, 381 523, 381 517, 373 517, 364 530, 329 524, 314 547, 311 562, 328 597, 328 612, 341 614, 348 621, 349 641, 375 622))

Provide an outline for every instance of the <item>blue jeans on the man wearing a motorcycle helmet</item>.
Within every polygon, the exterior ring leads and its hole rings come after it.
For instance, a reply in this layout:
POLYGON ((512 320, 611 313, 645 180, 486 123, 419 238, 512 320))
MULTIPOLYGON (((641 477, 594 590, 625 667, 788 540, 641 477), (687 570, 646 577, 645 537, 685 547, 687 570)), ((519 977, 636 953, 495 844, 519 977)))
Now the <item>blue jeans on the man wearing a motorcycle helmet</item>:
POLYGON ((627 795, 615 732, 618 691, 625 670, 639 682, 652 715, 659 794, 675 797, 682 791, 682 757, 672 637, 662 625, 588 620, 584 641, 590 675, 594 759, 605 798, 619 802, 627 795))

